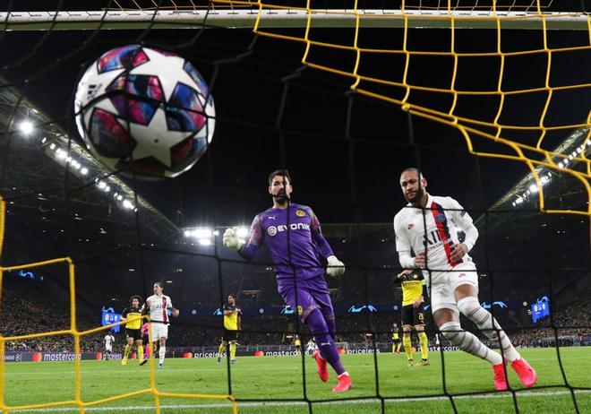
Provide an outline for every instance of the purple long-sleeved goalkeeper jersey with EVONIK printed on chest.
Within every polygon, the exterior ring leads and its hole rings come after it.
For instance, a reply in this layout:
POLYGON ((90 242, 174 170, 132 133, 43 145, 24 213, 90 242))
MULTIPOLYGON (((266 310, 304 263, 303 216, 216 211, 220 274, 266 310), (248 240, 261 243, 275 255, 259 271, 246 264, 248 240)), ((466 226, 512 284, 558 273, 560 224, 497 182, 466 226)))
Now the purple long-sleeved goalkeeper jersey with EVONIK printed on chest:
POLYGON ((333 254, 322 236, 320 221, 310 207, 300 204, 291 204, 287 209, 270 208, 257 214, 248 240, 238 253, 246 260, 253 260, 263 241, 270 249, 278 280, 293 279, 294 272, 298 280, 319 276, 324 273, 320 256, 333 254))

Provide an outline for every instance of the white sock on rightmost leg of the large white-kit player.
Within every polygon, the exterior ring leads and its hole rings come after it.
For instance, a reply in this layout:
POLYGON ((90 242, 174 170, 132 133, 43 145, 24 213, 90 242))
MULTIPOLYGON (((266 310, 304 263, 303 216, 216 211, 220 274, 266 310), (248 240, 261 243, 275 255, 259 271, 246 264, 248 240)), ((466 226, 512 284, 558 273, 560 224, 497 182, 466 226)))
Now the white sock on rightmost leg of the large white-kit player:
POLYGON ((475 323, 491 341, 495 341, 502 349, 502 354, 510 362, 521 358, 513 347, 507 334, 501 329, 501 325, 494 319, 489 311, 480 306, 478 298, 467 297, 458 300, 459 311, 475 323))

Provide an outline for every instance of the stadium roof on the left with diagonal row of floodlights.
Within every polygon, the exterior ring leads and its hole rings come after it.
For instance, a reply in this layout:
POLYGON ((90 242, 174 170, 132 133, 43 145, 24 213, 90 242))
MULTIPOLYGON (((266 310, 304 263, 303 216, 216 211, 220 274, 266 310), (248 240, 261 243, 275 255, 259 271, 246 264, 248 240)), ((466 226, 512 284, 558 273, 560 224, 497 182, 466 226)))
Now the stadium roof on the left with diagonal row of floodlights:
MULTIPOLYGON (((0 82, 8 84, 1 78, 0 82)), ((138 211, 142 229, 152 236, 167 240, 180 233, 175 223, 70 139, 61 125, 8 86, 0 88, 0 128, 7 138, 0 142, 0 191, 11 204, 18 202, 9 206, 9 213, 29 219, 34 216, 26 211, 33 210, 47 212, 39 214, 44 220, 129 226, 135 223, 131 214, 138 211), (32 125, 30 134, 19 131, 22 121, 32 125)))

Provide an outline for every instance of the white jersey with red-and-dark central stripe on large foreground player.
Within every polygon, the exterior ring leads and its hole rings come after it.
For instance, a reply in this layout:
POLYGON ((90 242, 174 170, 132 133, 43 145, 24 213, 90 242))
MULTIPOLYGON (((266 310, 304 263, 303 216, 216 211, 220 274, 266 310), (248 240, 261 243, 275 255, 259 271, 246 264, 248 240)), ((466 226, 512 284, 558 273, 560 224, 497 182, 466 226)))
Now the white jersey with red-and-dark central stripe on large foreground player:
POLYGON ((411 248, 415 254, 426 249, 426 267, 435 272, 450 270, 458 263, 472 262, 467 254, 458 261, 450 258, 451 245, 459 243, 458 229, 466 232, 464 244, 468 251, 474 246, 478 230, 472 224, 472 218, 453 198, 427 195, 424 210, 408 203, 394 217, 396 250, 402 267, 414 267, 410 259, 411 248), (403 256, 408 258, 409 263, 403 263, 403 256))

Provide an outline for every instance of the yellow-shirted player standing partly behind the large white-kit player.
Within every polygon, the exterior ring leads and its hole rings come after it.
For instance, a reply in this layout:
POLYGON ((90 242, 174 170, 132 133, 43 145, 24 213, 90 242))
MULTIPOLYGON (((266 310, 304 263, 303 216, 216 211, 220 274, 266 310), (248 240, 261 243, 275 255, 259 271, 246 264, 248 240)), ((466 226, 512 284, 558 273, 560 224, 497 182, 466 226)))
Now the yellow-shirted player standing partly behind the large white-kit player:
POLYGON ((413 327, 421 342, 421 360, 417 365, 429 365, 429 340, 424 333, 423 310, 427 289, 423 275, 417 271, 407 270, 398 273, 396 281, 402 285, 402 342, 407 353, 408 367, 413 367, 413 346, 410 341, 413 327))

